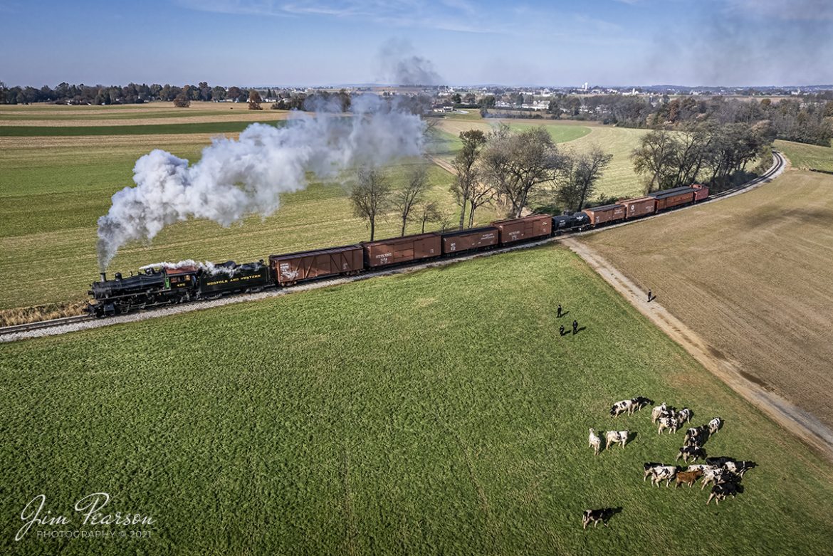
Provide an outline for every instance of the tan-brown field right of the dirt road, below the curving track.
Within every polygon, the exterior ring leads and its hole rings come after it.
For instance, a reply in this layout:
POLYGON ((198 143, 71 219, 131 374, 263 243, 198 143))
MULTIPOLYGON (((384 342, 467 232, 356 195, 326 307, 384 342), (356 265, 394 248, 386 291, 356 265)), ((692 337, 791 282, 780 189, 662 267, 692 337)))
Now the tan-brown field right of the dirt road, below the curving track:
POLYGON ((833 176, 788 170, 586 241, 747 378, 833 427, 831 223, 833 176))

